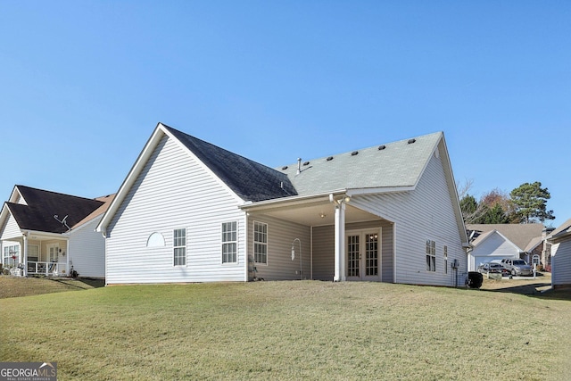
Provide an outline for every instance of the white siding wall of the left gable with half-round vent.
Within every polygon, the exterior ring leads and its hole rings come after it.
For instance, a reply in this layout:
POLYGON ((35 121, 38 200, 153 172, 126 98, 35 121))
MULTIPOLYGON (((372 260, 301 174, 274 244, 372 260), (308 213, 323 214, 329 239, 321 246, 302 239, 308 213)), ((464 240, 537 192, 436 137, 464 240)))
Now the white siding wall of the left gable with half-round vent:
POLYGON ((244 281, 245 213, 185 147, 162 137, 107 228, 108 284, 244 281), (237 221, 236 264, 220 261, 220 225, 237 221), (173 267, 173 230, 186 228, 186 267, 173 267), (147 247, 154 232, 164 247, 147 247))

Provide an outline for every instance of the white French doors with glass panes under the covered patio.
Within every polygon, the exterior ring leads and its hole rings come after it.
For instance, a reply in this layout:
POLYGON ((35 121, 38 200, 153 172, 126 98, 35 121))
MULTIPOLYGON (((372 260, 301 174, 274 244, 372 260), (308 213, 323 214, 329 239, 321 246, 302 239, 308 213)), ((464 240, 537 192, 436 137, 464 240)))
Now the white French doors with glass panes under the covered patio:
POLYGON ((347 280, 381 280, 380 229, 350 231, 345 237, 347 280))

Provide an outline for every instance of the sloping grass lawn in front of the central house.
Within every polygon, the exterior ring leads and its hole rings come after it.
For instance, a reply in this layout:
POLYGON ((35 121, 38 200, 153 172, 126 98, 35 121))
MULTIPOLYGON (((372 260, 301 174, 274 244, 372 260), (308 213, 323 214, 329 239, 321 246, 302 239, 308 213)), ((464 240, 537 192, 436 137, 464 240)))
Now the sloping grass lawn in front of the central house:
POLYGON ((0 361, 57 361, 60 380, 559 380, 570 316, 568 292, 113 286, 0 299, 0 361))

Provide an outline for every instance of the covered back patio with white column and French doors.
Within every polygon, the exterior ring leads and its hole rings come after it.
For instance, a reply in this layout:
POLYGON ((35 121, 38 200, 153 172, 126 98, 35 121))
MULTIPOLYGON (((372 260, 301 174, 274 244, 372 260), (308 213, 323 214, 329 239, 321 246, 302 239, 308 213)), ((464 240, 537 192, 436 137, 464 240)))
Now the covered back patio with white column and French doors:
MULTIPOLYGON (((249 229, 268 224, 273 260, 256 264, 258 277, 285 278, 285 270, 301 279, 393 283, 394 224, 354 201, 342 191, 244 205, 249 229), (290 253, 296 268, 287 263, 290 253)), ((254 239, 249 232, 250 254, 254 239)))

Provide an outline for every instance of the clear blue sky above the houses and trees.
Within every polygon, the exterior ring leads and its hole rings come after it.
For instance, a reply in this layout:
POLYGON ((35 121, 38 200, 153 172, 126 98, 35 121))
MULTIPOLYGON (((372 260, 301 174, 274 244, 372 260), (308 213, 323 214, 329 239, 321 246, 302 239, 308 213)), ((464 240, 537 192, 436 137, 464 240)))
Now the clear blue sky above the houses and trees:
POLYGON ((571 218, 571 2, 0 2, 0 192, 116 192, 157 122, 271 167, 444 131, 571 218))

